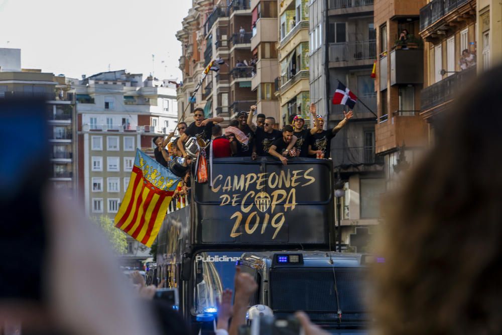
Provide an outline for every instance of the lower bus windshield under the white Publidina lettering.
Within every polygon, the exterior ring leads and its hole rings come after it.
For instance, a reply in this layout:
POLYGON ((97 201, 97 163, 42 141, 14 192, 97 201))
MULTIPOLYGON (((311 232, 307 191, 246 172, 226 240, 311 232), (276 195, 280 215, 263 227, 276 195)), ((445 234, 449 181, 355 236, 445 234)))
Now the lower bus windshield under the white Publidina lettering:
POLYGON ((195 255, 192 314, 216 307, 216 298, 221 297, 221 292, 225 288, 233 290, 235 263, 243 253, 245 251, 211 251, 195 255))

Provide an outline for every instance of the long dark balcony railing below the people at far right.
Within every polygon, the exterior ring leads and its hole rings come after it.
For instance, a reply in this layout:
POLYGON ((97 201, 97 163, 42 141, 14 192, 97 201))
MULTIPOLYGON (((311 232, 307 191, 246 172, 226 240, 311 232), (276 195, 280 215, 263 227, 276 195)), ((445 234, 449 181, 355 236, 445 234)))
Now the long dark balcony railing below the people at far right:
POLYGON ((450 100, 476 76, 476 67, 470 67, 462 72, 456 72, 443 80, 426 87, 421 93, 422 111, 433 108, 450 100))

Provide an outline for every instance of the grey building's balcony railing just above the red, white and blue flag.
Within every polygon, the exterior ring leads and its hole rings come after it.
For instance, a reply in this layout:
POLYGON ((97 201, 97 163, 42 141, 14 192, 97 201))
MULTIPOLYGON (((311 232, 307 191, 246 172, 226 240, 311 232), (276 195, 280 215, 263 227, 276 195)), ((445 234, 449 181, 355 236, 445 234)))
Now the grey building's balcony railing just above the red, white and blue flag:
POLYGON ((376 58, 376 41, 356 41, 345 43, 330 43, 329 61, 348 62, 361 59, 376 58))

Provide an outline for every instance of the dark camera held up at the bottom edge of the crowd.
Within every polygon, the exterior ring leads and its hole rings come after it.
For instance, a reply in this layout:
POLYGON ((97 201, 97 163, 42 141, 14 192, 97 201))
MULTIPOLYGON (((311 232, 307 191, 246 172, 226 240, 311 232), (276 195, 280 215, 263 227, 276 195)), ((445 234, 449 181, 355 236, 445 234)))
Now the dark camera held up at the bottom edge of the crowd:
POLYGON ((303 335, 300 321, 293 315, 277 317, 262 315, 253 320, 251 335, 303 335))

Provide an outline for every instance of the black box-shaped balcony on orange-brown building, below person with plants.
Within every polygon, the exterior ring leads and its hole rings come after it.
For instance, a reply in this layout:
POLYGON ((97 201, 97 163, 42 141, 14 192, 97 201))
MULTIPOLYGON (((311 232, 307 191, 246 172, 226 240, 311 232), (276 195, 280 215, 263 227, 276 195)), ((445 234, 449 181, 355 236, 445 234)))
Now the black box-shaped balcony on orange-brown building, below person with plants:
POLYGON ((422 84, 423 82, 423 50, 399 49, 391 51, 391 85, 422 84))

